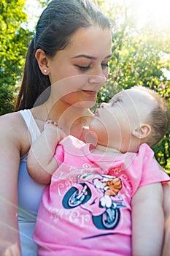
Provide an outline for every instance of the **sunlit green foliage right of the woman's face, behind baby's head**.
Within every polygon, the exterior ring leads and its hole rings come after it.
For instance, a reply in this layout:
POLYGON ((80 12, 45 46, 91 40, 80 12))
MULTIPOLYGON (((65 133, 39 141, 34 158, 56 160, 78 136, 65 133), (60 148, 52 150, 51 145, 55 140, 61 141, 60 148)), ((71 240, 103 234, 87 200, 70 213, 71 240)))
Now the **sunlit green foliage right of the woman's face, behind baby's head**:
MULTIPOLYGON (((113 20, 112 60, 110 76, 98 94, 98 103, 106 101, 121 89, 137 84, 158 91, 170 104, 170 80, 165 70, 170 70, 169 30, 158 30, 152 20, 139 29, 134 13, 125 1, 98 0, 100 6, 113 20)), ((155 146, 155 157, 170 172, 170 133, 155 146)))

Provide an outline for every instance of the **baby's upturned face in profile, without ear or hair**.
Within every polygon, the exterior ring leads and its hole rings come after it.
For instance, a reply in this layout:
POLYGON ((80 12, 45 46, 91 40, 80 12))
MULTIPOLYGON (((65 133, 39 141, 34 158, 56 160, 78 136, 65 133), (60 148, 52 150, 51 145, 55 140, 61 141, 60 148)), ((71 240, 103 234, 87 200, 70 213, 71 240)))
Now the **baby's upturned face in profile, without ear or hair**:
POLYGON ((96 110, 90 130, 104 146, 128 145, 131 132, 146 123, 155 99, 145 91, 128 89, 116 94, 96 110))

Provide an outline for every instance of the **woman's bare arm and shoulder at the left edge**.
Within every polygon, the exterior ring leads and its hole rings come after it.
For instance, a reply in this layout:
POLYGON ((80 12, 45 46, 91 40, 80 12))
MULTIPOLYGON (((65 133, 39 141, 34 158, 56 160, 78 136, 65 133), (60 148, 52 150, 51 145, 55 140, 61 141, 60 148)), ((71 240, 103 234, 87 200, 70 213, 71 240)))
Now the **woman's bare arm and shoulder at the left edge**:
POLYGON ((22 121, 20 114, 15 113, 0 117, 0 255, 9 255, 9 252, 20 255, 18 167, 22 148, 20 141, 26 144, 22 121))

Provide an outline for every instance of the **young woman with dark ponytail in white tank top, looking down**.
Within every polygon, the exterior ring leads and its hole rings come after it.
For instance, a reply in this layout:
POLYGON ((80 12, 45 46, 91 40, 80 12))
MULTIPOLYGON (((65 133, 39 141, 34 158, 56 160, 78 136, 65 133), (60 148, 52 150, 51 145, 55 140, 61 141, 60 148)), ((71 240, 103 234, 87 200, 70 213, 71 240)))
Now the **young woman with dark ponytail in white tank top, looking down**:
POLYGON ((111 56, 111 23, 90 1, 53 0, 42 12, 16 112, 0 118, 0 255, 36 255, 32 233, 45 185, 28 176, 28 150, 49 118, 83 140, 111 56))

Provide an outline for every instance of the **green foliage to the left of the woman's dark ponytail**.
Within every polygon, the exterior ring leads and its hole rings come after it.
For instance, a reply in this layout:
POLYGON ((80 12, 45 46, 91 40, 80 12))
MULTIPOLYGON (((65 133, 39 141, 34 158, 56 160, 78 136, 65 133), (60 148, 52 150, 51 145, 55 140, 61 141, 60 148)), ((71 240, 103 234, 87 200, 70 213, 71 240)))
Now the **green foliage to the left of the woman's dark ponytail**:
POLYGON ((0 3, 0 115, 13 109, 31 32, 23 28, 27 20, 25 0, 0 3))

